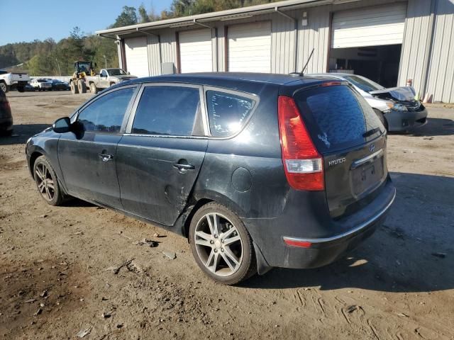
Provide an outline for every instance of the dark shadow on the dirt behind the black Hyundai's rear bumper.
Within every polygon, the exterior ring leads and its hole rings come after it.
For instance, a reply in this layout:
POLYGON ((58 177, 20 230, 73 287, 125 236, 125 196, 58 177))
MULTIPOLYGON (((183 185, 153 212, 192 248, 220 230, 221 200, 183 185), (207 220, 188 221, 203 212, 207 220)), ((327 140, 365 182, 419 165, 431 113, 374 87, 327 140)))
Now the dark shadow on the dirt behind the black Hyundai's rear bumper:
POLYGON ((316 269, 274 268, 243 288, 362 288, 430 292, 454 288, 454 178, 392 173, 397 198, 384 225, 350 254, 316 269))

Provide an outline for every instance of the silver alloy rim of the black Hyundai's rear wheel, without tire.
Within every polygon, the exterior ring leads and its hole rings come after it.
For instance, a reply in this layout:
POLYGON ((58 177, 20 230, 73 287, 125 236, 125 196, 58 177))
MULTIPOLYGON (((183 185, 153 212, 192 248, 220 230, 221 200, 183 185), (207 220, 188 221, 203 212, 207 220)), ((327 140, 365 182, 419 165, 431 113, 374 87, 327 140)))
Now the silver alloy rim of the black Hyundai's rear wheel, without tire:
POLYGON ((217 276, 231 276, 243 261, 243 242, 227 217, 211 212, 199 220, 194 244, 204 266, 217 276))

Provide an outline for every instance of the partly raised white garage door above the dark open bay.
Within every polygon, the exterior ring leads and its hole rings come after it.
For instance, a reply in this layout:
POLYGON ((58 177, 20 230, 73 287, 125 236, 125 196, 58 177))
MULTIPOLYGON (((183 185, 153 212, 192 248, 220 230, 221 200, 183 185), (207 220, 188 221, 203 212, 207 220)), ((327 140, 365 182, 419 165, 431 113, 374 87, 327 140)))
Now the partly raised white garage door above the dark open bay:
POLYGON ((405 16, 405 2, 336 12, 331 47, 402 44, 405 16))

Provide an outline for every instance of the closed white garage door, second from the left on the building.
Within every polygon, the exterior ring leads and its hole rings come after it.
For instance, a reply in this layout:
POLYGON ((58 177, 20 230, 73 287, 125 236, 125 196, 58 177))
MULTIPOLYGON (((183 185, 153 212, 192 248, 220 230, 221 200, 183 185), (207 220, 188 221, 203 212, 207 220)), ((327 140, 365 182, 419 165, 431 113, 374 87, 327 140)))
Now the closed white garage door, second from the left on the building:
POLYGON ((181 72, 211 72, 213 60, 211 30, 187 30, 178 33, 181 72))

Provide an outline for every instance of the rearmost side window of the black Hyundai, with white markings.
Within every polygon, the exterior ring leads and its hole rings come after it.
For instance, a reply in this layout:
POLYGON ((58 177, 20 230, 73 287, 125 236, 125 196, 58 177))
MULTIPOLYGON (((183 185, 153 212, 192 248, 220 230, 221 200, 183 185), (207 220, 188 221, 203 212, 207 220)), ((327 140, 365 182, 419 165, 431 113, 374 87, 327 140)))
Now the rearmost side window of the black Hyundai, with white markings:
POLYGON ((252 112, 251 98, 220 91, 206 91, 211 135, 227 137, 240 131, 252 112))

